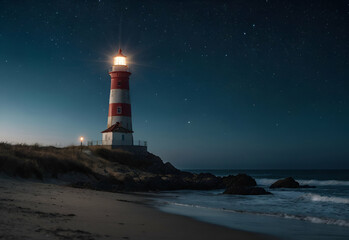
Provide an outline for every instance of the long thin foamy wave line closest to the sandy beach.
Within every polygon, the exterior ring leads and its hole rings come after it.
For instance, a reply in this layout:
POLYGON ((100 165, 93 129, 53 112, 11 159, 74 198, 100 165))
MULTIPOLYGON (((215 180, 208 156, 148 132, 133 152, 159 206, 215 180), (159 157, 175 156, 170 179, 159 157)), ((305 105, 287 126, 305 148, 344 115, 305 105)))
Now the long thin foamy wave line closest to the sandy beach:
POLYGON ((212 207, 204 207, 204 206, 194 205, 194 204, 184 204, 184 203, 175 203, 175 202, 166 202, 166 204, 180 206, 180 207, 193 207, 193 208, 201 208, 201 209, 232 212, 232 213, 246 213, 246 214, 254 214, 254 215, 269 216, 269 217, 281 217, 285 219, 294 219, 294 220, 306 221, 306 222, 317 223, 317 224, 328 224, 328 225, 337 225, 341 227, 349 227, 349 221, 346 221, 343 219, 301 216, 301 215, 292 215, 292 214, 286 214, 286 213, 265 213, 265 212, 257 212, 257 211, 255 212, 255 211, 245 211, 245 210, 233 210, 233 209, 226 209, 226 208, 212 208, 212 207))

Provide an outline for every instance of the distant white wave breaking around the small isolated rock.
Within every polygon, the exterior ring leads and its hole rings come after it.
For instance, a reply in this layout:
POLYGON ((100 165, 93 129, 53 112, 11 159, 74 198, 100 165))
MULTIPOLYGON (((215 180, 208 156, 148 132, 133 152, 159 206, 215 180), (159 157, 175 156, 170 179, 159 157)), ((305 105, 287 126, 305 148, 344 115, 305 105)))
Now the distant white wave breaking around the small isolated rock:
MULTIPOLYGON (((272 178, 257 178, 256 182, 258 185, 270 186, 279 179, 272 178)), ((340 180, 317 180, 317 179, 296 179, 301 185, 311 185, 311 186, 349 186, 349 181, 340 180)))

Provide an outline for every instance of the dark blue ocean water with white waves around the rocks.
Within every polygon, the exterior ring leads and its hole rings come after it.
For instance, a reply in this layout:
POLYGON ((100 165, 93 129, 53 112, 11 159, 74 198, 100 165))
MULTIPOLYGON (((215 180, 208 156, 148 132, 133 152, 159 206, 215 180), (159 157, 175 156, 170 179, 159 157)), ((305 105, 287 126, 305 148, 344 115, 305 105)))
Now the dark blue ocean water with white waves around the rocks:
POLYGON ((272 195, 225 195, 223 189, 167 191, 154 198, 160 210, 286 240, 349 239, 349 170, 186 171, 246 173, 272 195), (316 188, 268 189, 285 177, 316 188))

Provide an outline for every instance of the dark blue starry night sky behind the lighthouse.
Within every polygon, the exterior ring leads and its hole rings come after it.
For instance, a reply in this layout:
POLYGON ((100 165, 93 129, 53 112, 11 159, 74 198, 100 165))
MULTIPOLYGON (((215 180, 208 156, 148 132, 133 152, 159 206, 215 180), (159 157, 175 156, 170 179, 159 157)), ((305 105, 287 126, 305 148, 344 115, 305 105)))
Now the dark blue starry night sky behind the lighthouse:
POLYGON ((349 168, 349 1, 0 0, 0 141, 135 140, 179 168, 349 168))

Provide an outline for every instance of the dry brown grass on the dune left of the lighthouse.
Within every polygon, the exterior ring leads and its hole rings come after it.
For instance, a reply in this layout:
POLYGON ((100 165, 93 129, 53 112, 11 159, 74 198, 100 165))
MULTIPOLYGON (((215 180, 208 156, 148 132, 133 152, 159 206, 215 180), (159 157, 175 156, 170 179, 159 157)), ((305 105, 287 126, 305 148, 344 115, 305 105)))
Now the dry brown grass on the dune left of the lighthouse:
POLYGON ((78 148, 0 143, 0 172, 10 176, 43 179, 68 172, 92 173, 84 160, 78 148))

